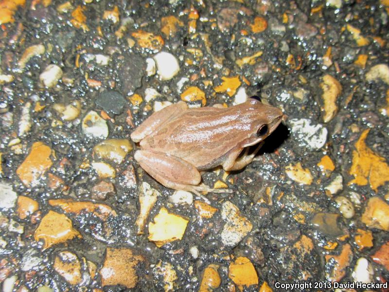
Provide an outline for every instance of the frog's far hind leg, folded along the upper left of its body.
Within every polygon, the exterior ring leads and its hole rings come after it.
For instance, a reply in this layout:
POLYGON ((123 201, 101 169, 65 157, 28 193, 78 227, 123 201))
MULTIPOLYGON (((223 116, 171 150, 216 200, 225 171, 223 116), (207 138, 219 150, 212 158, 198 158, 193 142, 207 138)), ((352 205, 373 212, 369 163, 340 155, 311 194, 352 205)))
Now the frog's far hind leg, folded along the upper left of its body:
POLYGON ((144 137, 151 135, 159 128, 160 125, 168 122, 176 117, 182 111, 187 110, 188 105, 179 101, 177 104, 163 108, 162 110, 154 112, 151 116, 144 120, 141 125, 131 133, 131 140, 134 142, 141 141, 144 137))

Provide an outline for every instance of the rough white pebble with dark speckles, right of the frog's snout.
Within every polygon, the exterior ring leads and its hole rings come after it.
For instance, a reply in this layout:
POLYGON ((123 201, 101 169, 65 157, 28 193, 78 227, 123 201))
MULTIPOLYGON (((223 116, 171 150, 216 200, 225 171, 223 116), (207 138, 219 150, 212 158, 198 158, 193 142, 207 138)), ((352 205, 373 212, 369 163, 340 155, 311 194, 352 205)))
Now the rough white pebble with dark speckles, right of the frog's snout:
POLYGON ((320 149, 327 141, 327 128, 321 124, 311 125, 310 119, 291 119, 292 135, 301 141, 300 146, 320 149))

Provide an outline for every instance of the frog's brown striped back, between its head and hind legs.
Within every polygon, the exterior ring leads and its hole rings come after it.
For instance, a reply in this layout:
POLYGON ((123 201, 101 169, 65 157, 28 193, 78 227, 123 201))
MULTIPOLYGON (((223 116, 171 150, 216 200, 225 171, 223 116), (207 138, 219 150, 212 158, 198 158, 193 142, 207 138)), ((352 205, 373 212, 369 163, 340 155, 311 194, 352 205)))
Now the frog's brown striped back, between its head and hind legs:
POLYGON ((252 132, 247 109, 200 108, 182 112, 141 142, 141 147, 175 155, 199 169, 221 164, 252 132))

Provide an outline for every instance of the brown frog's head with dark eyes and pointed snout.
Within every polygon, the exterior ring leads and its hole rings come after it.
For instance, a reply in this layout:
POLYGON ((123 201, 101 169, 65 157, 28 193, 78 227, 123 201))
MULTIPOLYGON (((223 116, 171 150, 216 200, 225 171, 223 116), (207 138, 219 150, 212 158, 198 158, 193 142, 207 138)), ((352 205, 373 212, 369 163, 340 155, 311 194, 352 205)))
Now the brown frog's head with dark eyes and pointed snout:
POLYGON ((264 140, 280 125, 283 112, 275 107, 265 105, 258 96, 246 101, 250 115, 250 136, 243 141, 243 147, 255 145, 264 140))

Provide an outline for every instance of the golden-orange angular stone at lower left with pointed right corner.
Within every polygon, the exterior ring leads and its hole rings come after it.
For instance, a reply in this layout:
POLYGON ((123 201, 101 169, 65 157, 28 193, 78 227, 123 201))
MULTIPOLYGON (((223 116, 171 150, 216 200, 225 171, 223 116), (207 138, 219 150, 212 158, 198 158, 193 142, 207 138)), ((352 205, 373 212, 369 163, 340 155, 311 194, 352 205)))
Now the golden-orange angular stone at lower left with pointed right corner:
POLYGON ((43 239, 44 249, 54 244, 63 243, 74 237, 81 237, 80 233, 73 228, 71 220, 64 214, 49 211, 41 220, 35 230, 36 241, 43 239))

